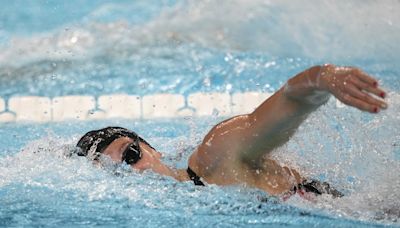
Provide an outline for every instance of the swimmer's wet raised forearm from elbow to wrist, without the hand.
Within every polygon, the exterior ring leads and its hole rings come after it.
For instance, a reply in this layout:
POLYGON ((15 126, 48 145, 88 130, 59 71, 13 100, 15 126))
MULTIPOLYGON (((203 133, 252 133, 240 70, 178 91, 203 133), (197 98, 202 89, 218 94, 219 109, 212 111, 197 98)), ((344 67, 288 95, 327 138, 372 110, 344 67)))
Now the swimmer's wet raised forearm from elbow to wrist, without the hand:
POLYGON ((321 69, 297 74, 249 114, 246 143, 237 146, 243 163, 258 167, 265 154, 286 143, 308 114, 328 100, 330 93, 318 86, 321 69))

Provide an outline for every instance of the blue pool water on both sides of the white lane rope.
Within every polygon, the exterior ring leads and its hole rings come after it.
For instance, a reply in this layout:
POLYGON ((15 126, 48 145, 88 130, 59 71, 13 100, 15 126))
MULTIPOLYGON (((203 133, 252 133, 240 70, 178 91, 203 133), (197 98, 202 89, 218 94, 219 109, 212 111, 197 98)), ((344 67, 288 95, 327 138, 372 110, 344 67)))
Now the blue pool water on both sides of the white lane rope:
POLYGON ((273 92, 307 67, 333 62, 376 76, 389 91, 390 109, 372 116, 331 100, 275 152, 348 195, 316 204, 282 203, 242 186, 197 188, 65 157, 86 131, 120 125, 184 168, 218 115, 1 123, 0 226, 399 226, 398 1, 1 3, 5 99, 273 92))

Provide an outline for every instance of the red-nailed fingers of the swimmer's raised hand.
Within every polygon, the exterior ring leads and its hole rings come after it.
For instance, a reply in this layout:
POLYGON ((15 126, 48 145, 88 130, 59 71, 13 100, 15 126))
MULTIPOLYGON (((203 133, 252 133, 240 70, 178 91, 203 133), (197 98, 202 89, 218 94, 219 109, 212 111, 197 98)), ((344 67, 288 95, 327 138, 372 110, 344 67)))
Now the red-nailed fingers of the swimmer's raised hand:
MULTIPOLYGON (((386 109, 387 104, 371 95, 368 93, 361 91, 359 88, 355 87, 352 84, 349 84, 346 88, 347 93, 354 97, 355 99, 364 102, 365 104, 368 104, 368 107, 363 103, 360 107, 362 110, 365 110, 364 108, 367 108, 365 111, 369 112, 378 112, 379 109, 386 109)), ((360 104, 360 102, 356 102, 356 104, 360 104)))

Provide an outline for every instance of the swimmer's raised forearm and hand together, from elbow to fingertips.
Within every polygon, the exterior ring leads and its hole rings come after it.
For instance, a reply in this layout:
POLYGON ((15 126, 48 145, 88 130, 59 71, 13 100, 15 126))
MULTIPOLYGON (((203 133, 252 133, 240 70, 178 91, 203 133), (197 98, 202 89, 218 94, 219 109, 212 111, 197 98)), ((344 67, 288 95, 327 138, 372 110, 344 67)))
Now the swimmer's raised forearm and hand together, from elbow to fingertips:
POLYGON ((343 103, 378 113, 387 104, 371 94, 385 97, 377 81, 362 70, 333 65, 315 66, 291 78, 270 99, 250 114, 251 147, 242 154, 246 163, 257 165, 261 157, 286 143, 298 126, 333 94, 343 103))

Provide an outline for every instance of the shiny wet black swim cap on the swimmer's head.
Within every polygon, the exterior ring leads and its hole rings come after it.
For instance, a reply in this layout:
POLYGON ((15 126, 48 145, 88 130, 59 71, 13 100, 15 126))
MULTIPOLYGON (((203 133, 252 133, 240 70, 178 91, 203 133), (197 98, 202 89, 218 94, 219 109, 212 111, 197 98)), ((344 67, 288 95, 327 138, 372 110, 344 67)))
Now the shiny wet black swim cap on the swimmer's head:
POLYGON ((139 137, 134 131, 123 127, 106 127, 99 130, 89 131, 76 144, 76 154, 79 156, 87 156, 93 160, 99 158, 105 148, 114 140, 121 137, 129 137, 139 140, 154 149, 148 142, 139 137))

